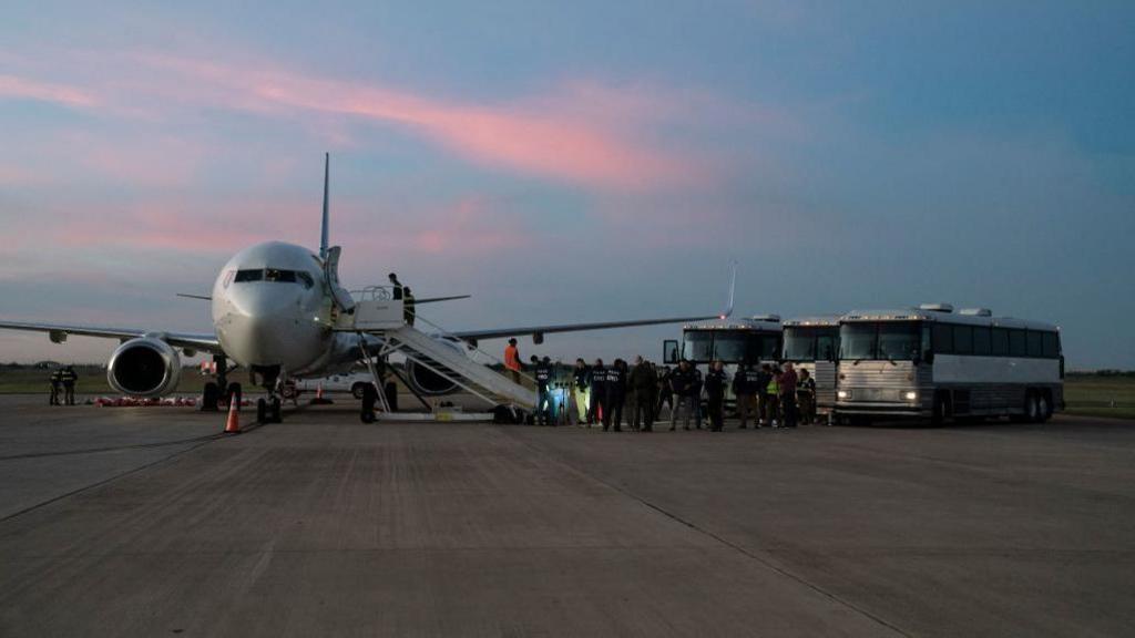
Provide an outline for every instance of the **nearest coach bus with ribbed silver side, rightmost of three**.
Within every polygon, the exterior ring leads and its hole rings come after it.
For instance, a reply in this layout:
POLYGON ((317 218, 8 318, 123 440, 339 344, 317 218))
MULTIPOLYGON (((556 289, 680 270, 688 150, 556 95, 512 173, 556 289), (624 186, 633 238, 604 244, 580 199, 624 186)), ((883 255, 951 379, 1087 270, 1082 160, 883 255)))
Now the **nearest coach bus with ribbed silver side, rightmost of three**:
POLYGON ((835 414, 841 420, 1001 417, 1041 422, 1063 408, 1053 325, 955 313, 949 304, 840 318, 835 414))

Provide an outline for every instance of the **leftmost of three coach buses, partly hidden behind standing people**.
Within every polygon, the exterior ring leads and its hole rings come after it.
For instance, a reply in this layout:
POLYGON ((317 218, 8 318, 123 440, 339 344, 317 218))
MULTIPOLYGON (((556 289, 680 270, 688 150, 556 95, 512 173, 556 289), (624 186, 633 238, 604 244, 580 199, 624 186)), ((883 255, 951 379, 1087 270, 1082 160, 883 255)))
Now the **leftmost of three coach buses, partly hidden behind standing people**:
MULTIPOLYGON (((783 346, 779 314, 758 314, 745 319, 700 321, 682 326, 682 341, 663 342, 663 362, 675 366, 688 359, 704 375, 709 362, 721 360, 732 380, 740 364, 779 361, 783 346)), ((726 389, 725 404, 735 405, 732 387, 726 389)))

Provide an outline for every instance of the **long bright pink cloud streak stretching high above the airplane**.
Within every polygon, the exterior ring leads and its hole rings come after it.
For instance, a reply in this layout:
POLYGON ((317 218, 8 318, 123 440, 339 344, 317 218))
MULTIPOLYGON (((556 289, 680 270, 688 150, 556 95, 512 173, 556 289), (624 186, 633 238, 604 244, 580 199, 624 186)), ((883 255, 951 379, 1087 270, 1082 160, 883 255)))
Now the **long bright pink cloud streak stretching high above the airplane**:
POLYGON ((662 102, 613 91, 575 91, 577 102, 535 99, 512 106, 437 100, 369 84, 327 81, 274 68, 230 67, 165 56, 140 57, 165 69, 175 93, 228 108, 299 110, 393 123, 478 163, 585 185, 649 188, 704 182, 691 158, 633 134, 634 124, 664 114, 662 102), (607 109, 614 104, 617 108, 607 109))

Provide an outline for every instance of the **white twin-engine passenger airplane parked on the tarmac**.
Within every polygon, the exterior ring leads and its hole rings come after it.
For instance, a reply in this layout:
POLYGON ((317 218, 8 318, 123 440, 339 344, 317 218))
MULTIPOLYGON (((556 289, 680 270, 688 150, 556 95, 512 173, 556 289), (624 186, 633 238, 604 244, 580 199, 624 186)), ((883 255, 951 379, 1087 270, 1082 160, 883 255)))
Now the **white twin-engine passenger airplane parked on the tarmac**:
MULTIPOLYGON (((182 295, 210 301, 211 334, 5 320, 0 320, 0 328, 48 333, 53 343, 65 342, 68 335, 119 339, 121 344, 107 366, 107 379, 117 392, 141 397, 162 396, 176 389, 182 369, 178 351, 186 356, 195 356, 199 352, 211 354, 217 363, 218 384, 205 386, 203 404, 207 409, 216 409, 221 393, 241 395, 239 384, 226 383, 232 360, 250 370, 253 378, 259 377, 267 391, 268 397, 258 402, 258 419, 279 421, 280 392, 287 379, 345 371, 360 361, 371 361, 382 345, 381 338, 375 335, 336 329, 344 314, 353 313, 356 300, 339 284, 340 247, 329 246, 329 182, 330 153, 327 153, 318 253, 284 242, 255 244, 228 260, 217 275, 211 295, 182 295)), ((734 265, 729 308, 723 314, 459 330, 429 336, 468 356, 484 339, 532 336, 536 343, 541 343, 544 335, 552 333, 724 318, 733 311, 735 278, 734 265)), ((422 299, 418 303, 468 296, 422 299)), ((404 380, 419 396, 444 395, 459 389, 444 370, 430 366, 407 366, 404 380)))

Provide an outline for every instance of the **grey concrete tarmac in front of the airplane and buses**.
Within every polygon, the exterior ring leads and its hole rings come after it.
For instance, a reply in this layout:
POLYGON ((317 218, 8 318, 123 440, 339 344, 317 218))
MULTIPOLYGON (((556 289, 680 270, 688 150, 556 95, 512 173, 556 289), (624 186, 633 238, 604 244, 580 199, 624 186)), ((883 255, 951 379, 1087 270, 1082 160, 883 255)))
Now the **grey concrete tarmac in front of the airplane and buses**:
POLYGON ((43 402, 0 397, 2 636, 1135 627, 1130 421, 605 434, 340 398, 218 437, 43 402))

